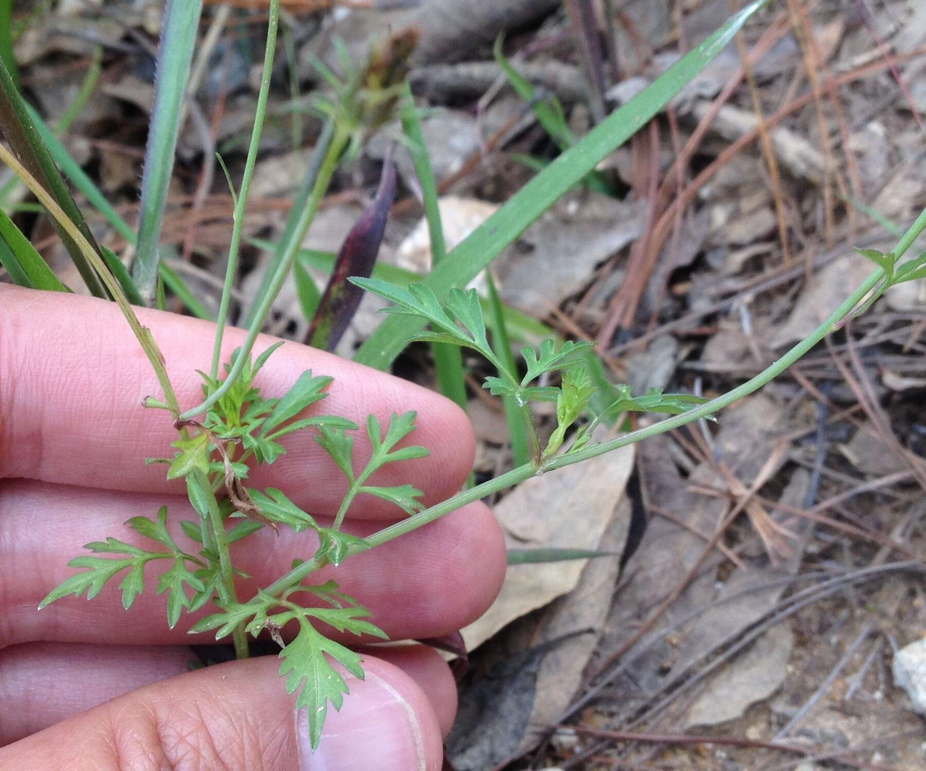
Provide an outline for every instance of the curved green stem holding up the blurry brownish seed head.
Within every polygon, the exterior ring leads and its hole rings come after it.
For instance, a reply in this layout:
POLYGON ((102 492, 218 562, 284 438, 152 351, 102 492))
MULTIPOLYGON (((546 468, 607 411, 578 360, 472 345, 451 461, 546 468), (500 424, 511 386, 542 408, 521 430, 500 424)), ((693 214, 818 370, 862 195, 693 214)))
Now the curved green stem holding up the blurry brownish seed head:
POLYGON ((280 265, 277 267, 276 272, 273 274, 273 279, 269 283, 268 291, 264 292, 260 299, 257 313, 254 320, 251 322, 250 328, 247 330, 247 337, 244 339, 244 344, 241 347, 241 354, 239 354, 238 358, 235 360, 232 371, 229 372, 228 377, 222 382, 219 388, 208 396, 206 401, 184 412, 181 415, 181 420, 191 420, 213 404, 216 404, 216 402, 232 388, 235 380, 241 375, 244 369, 244 363, 249 360, 251 350, 254 348, 254 343, 257 341, 257 335, 260 334, 260 330, 263 329, 264 322, 269 316, 270 308, 273 307, 273 301, 276 299, 277 294, 280 293, 283 281, 286 280, 290 268, 293 267, 293 260, 295 259, 296 252, 299 251, 299 245, 305 236, 306 230, 308 230, 309 224, 312 219, 315 218, 315 213, 319 209, 319 203, 325 191, 328 190, 328 184, 332 180, 334 169, 337 168, 338 160, 349 139, 349 131, 335 128, 332 143, 328 147, 328 152, 325 154, 325 159, 321 163, 321 168, 319 168, 319 176, 315 180, 315 185, 312 188, 312 193, 308 198, 307 205, 302 211, 296 225, 294 238, 287 243, 280 265))

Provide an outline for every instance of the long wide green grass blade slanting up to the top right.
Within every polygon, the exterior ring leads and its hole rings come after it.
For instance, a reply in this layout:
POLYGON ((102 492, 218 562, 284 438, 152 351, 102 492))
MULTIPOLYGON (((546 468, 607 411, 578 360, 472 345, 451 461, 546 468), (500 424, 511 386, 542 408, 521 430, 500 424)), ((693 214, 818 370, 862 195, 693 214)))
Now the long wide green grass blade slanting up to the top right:
MULTIPOLYGON (((679 93, 730 43, 746 20, 763 5, 764 0, 757 0, 734 14, 720 30, 682 57, 657 81, 613 112, 580 142, 559 155, 447 255, 447 259, 423 281, 425 286, 441 299, 451 288, 465 286, 535 219, 554 205, 563 193, 653 118, 669 99, 679 93)), ((423 322, 415 317, 389 317, 370 335, 357 352, 355 360, 369 367, 386 369, 405 347, 408 338, 423 326, 423 322)))

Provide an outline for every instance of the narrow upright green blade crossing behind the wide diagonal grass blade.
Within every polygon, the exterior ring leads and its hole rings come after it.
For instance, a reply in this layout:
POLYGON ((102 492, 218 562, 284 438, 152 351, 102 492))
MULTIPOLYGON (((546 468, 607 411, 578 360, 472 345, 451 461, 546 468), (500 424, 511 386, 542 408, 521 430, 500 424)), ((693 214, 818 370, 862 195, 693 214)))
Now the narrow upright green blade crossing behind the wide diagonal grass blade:
MULTIPOLYGON (((424 142, 424 133, 418 117, 418 108, 411 93, 411 86, 405 82, 402 108, 402 129, 409 140, 407 147, 415 165, 415 174, 421 185, 421 197, 424 200, 424 218, 428 223, 428 235, 431 238, 432 265, 438 265, 447 255, 444 242, 444 226, 441 223, 441 208, 437 198, 437 182, 431 156, 424 142)), ((466 409, 466 379, 463 376, 463 354, 456 345, 434 343, 431 346, 434 356, 434 368, 437 372, 437 388, 448 399, 466 409)))

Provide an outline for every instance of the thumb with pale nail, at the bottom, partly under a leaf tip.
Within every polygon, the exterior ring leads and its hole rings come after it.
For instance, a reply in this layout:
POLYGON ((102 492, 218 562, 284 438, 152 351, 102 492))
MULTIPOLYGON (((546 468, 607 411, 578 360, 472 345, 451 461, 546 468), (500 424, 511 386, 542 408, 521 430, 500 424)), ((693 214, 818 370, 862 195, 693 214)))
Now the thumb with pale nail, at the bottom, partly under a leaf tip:
POLYGON ((398 667, 367 656, 365 679, 345 677, 350 693, 315 752, 278 669, 264 657, 133 690, 0 749, 0 769, 440 771, 437 717, 398 667))

